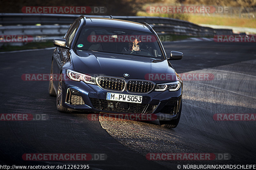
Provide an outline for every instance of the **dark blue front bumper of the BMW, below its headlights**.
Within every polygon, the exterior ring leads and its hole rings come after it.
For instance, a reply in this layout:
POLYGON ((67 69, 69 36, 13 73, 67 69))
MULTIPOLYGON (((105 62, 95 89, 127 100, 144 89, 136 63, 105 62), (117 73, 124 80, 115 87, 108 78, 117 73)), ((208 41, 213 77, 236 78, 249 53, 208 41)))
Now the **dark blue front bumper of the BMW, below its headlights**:
MULTIPOLYGON (((83 81, 62 81, 62 105, 72 110, 104 112, 114 114, 153 114, 160 120, 177 119, 182 101, 182 86, 178 91, 152 91, 141 95, 142 103, 129 103, 127 108, 119 108, 117 101, 106 100, 108 90, 83 81)), ((115 92, 118 93, 118 92, 115 92)), ((126 91, 122 94, 131 94, 126 91)), ((131 94, 133 95, 133 94, 131 94)))

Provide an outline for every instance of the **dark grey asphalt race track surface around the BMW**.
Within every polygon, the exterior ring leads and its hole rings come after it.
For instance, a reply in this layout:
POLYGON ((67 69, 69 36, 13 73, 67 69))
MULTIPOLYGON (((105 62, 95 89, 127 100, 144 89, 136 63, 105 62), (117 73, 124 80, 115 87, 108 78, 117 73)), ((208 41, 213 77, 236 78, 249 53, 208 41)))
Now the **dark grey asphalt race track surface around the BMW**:
MULTIPOLYGON (((48 81, 23 81, 46 73, 52 49, 1 53, 1 114, 45 114, 46 120, 0 121, 0 165, 89 165, 90 169, 177 169, 177 165, 255 164, 256 121, 215 121, 214 114, 256 114, 255 43, 163 43, 177 73, 209 73, 213 80, 183 82, 183 106, 175 129, 152 122, 91 121, 63 114, 48 94, 48 81), (225 78, 218 78, 218 76, 225 78), (25 161, 24 153, 104 153, 106 160, 25 161), (147 160, 147 153, 228 153, 229 160, 147 160)), ((181 167, 183 169, 183 167, 181 167)))

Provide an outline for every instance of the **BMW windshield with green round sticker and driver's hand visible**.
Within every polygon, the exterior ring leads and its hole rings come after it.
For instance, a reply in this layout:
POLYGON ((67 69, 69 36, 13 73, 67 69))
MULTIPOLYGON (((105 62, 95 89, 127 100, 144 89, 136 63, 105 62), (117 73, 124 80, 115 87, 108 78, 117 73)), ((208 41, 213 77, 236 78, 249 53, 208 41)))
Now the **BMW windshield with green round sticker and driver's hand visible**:
POLYGON ((118 28, 83 26, 75 49, 164 59, 156 35, 118 28))

